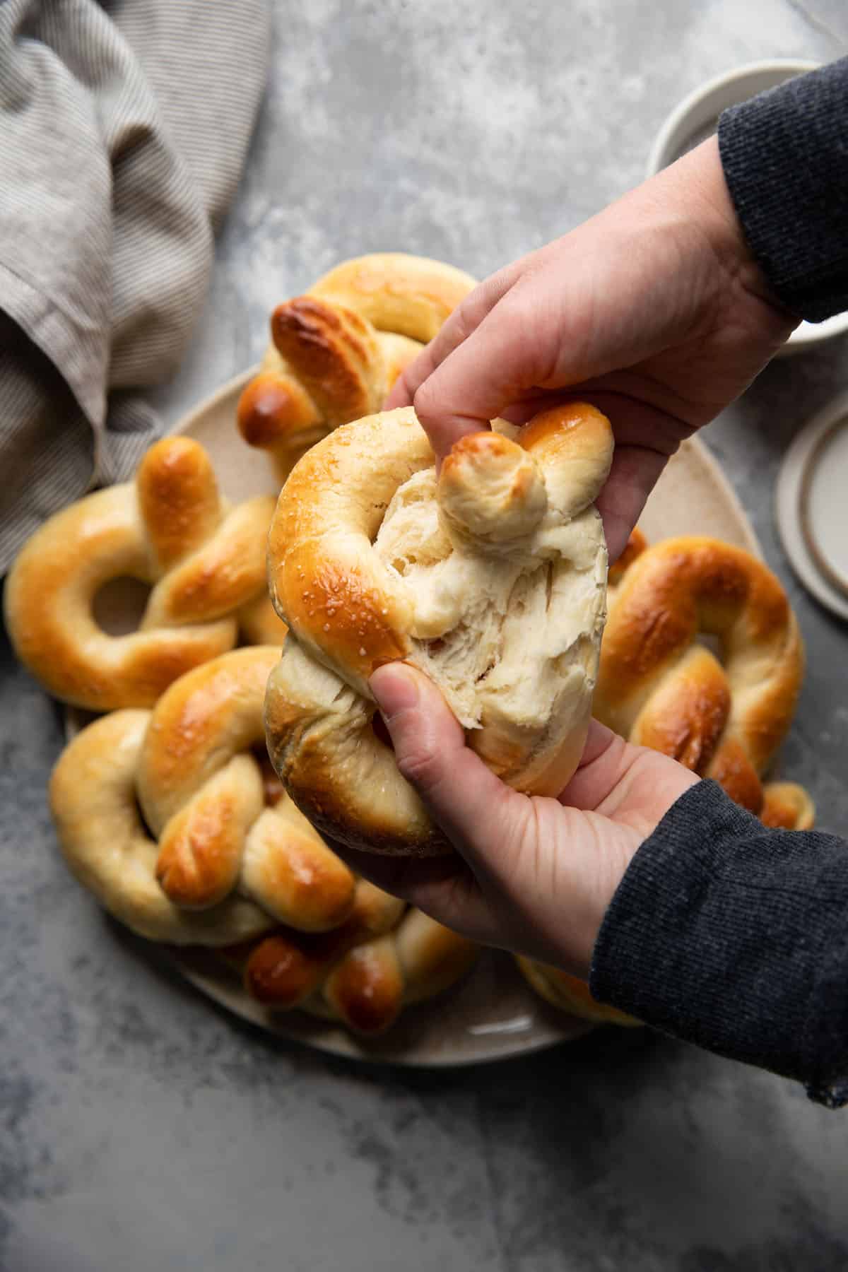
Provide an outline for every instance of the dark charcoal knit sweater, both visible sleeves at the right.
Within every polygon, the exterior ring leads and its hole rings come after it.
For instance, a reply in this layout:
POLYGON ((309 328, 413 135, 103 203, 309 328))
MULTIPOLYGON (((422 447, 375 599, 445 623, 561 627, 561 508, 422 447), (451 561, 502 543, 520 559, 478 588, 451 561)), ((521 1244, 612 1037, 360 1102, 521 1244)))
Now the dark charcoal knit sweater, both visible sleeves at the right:
MULTIPOLYGON (((778 298, 814 322, 848 309, 848 57, 726 111, 718 144, 778 298)), ((693 786, 633 857, 590 988, 848 1103, 848 845, 768 831, 715 782, 693 786)))

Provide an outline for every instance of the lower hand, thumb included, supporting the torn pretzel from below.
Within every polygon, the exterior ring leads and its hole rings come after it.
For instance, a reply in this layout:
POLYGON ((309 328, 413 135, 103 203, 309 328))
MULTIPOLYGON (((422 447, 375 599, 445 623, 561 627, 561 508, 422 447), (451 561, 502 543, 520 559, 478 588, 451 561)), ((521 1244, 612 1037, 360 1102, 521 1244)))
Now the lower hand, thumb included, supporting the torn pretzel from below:
POLYGON ((465 745, 462 726, 420 672, 390 663, 370 683, 400 772, 456 855, 420 860, 337 848, 339 855, 454 931, 586 978, 631 857, 698 778, 592 722, 559 798, 521 795, 465 745))

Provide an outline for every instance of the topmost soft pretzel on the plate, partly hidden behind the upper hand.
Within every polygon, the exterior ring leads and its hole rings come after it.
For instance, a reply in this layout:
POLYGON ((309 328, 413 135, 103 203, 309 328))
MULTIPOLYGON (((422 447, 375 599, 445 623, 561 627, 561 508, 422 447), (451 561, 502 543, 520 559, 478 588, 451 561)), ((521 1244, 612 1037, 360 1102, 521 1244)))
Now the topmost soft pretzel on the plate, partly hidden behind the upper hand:
POLYGON ((272 343, 245 387, 238 425, 271 453, 281 481, 339 424, 379 411, 474 280, 453 266, 399 252, 346 261, 277 305, 272 343))

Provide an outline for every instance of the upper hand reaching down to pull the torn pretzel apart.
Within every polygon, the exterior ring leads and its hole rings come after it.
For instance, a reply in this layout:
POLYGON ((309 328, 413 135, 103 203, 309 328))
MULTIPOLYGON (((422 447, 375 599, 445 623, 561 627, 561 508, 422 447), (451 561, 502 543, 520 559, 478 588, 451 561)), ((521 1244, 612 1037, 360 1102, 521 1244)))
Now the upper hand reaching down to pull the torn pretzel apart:
POLYGON ((482 282, 386 407, 414 406, 441 459, 496 416, 523 424, 564 391, 594 402, 617 443, 598 500, 614 561, 669 455, 797 322, 749 254, 712 137, 482 282))

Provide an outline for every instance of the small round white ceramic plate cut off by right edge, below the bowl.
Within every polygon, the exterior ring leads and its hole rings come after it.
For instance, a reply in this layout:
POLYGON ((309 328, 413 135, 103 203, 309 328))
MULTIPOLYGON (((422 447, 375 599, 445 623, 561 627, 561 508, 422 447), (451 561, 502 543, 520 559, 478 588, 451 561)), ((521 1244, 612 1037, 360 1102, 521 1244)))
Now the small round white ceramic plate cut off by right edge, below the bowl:
POLYGON ((848 618, 848 393, 829 402, 783 457, 774 515, 792 569, 809 591, 848 618))

